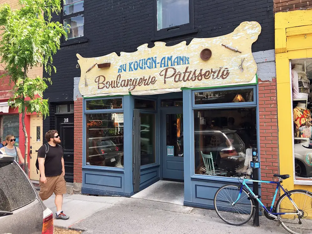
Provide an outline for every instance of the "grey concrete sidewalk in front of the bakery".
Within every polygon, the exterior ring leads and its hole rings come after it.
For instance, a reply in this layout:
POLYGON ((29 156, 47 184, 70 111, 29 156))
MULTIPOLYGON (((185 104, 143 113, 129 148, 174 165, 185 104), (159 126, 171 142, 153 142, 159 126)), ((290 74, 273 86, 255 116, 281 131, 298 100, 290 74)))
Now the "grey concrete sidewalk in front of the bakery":
MULTIPOLYGON (((44 203, 55 213, 54 197, 44 203)), ((279 223, 265 217, 261 217, 260 227, 253 227, 252 221, 231 226, 220 220, 214 210, 139 198, 65 195, 63 210, 70 219, 54 220, 54 225, 84 230, 84 234, 287 233, 279 223)))

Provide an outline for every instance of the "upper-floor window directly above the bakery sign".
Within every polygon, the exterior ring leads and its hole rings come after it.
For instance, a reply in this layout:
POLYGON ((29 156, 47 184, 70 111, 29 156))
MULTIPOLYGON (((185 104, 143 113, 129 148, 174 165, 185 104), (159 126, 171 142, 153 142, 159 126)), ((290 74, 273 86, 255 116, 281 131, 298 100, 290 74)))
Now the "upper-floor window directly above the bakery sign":
POLYGON ((190 23, 189 0, 157 0, 157 30, 190 23))

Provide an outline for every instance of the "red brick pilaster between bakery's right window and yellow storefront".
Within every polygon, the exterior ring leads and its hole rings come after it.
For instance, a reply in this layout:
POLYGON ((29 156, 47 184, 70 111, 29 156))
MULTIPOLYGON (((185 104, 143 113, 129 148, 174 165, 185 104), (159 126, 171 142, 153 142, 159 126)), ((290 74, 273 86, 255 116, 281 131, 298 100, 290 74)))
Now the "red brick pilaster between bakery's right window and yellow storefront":
MULTIPOLYGON (((272 81, 259 79, 258 95, 261 179, 270 181, 273 180, 273 174, 279 173, 276 78, 272 81)), ((271 205, 274 193, 274 184, 261 184, 263 204, 271 205)))

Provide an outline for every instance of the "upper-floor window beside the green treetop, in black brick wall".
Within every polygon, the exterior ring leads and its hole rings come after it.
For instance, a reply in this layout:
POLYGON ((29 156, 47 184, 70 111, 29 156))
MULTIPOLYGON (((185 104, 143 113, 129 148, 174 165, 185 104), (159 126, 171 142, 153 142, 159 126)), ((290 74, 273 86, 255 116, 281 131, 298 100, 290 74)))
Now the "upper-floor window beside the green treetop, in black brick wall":
POLYGON ((84 26, 84 0, 65 0, 63 8, 63 24, 70 29, 68 39, 82 37, 84 26))

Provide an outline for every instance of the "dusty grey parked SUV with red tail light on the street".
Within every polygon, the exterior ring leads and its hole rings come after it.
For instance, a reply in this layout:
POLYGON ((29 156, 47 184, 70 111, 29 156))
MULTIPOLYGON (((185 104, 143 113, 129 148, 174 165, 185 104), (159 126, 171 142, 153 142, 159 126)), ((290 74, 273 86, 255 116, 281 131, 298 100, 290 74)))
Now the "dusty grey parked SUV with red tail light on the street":
POLYGON ((53 214, 11 156, 0 151, 0 234, 53 234, 53 214))

